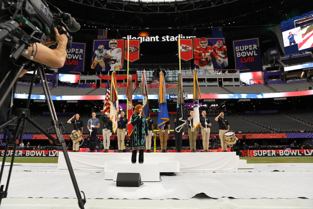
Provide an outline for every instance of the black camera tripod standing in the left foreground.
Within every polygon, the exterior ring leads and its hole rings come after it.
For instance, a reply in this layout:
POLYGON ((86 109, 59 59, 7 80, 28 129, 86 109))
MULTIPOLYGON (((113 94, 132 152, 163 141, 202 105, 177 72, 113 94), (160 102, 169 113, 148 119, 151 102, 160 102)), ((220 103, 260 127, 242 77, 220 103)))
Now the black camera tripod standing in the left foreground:
MULTIPOLYGON (((43 87, 43 90, 44 90, 44 95, 45 95, 45 98, 46 98, 47 106, 49 108, 49 112, 50 112, 50 115, 51 115, 51 123, 53 125, 54 131, 55 131, 55 134, 56 134, 56 139, 54 139, 49 133, 47 133, 37 123, 35 123, 33 121, 33 118, 30 117, 30 110, 28 108, 29 108, 30 97, 31 97, 31 93, 32 93, 32 86, 33 86, 34 80, 35 80, 35 73, 34 73, 33 74, 33 78, 32 78, 32 82, 31 82, 31 87, 29 89, 29 94, 28 94, 28 100, 27 100, 26 108, 17 108, 15 110, 15 112, 14 112, 13 117, 11 118, 11 111, 12 111, 12 107, 11 107, 11 110, 8 113, 8 118, 10 118, 10 119, 8 119, 5 123, 0 125, 0 129, 4 128, 5 130, 7 130, 7 128, 5 128, 5 127, 7 127, 7 126, 10 126, 10 127, 15 126, 15 125, 9 125, 9 124, 17 121, 16 127, 15 127, 15 131, 13 133, 13 137, 10 136, 10 133, 8 132, 8 130, 5 132, 4 137, 3 137, 3 140, 6 140, 6 139, 12 140, 14 142, 14 148, 13 148, 13 155, 12 155, 12 160, 11 160, 11 164, 10 164, 10 168, 9 168, 8 180, 7 180, 7 184, 6 184, 5 190, 3 190, 4 185, 0 186, 0 205, 1 205, 1 200, 3 198, 6 198, 7 195, 8 195, 8 185, 9 185, 9 181, 10 181, 10 177, 11 177, 11 173, 12 173, 12 167, 13 167, 13 163, 14 163, 14 157, 15 157, 16 148, 17 148, 17 145, 23 141, 23 131, 24 131, 24 127, 25 127, 25 122, 27 120, 29 123, 33 124, 39 131, 41 131, 45 136, 47 136, 49 138, 49 141, 51 140, 52 142, 54 142, 54 144, 61 146, 62 151, 64 153, 64 158, 65 158, 66 164, 67 164, 68 169, 69 169, 69 174, 70 174, 71 180, 72 180, 73 185, 74 185, 74 190, 75 190, 75 193, 76 193, 76 196, 77 196, 77 199, 78 199, 78 205, 79 205, 80 208, 83 209, 84 205, 86 203, 85 193, 83 191, 81 191, 83 193, 83 195, 84 195, 84 199, 82 199, 80 191, 79 191, 79 188, 78 188, 78 185, 77 185, 77 181, 76 181, 76 178, 75 178, 75 175, 74 175, 74 171, 73 171, 71 162, 69 160, 69 155, 67 153, 67 148, 66 148, 66 145, 65 145, 65 141, 64 141, 64 138, 63 138, 63 135, 62 135, 62 132, 61 132, 61 128, 60 128, 61 123, 58 121, 58 118, 57 118, 57 115, 56 115, 56 112, 55 112, 55 109, 54 109, 53 101, 52 101, 52 98, 51 98, 51 94, 50 94, 50 91, 49 91, 48 83, 46 82, 47 79, 46 79, 46 76, 45 76, 45 73, 44 73, 44 66, 42 64, 39 64, 39 63, 33 63, 33 64, 37 67, 38 72, 39 72, 39 77, 40 77, 40 80, 41 80, 41 83, 42 83, 42 87, 43 87), (20 133, 20 138, 18 139, 17 137, 18 137, 19 133, 20 133)), ((22 71, 23 67, 24 67, 24 65, 19 68, 18 73, 16 74, 16 76, 14 76, 13 81, 8 86, 8 89, 7 89, 6 93, 4 94, 3 98, 1 98, 1 100, 0 100, 0 108, 3 105, 4 99, 10 93, 10 91, 11 91, 11 89, 12 89, 14 84, 15 84, 15 86, 13 88, 13 92, 15 92, 16 85, 17 85, 17 80, 18 80, 18 75, 22 71)), ((13 70, 10 70, 8 72, 8 74, 14 73, 12 71, 13 70)), ((1 84, 0 84, 0 87, 2 87, 2 86, 3 86, 3 82, 1 82, 1 84)), ((7 140, 7 143, 6 143, 6 147, 5 147, 5 152, 4 153, 7 153, 7 151, 8 151, 8 140, 7 140)), ((6 154, 4 154, 4 156, 3 156, 3 161, 2 161, 1 171, 0 171, 0 181, 1 181, 1 178, 2 178, 2 175, 3 175, 5 159, 6 159, 6 154)))

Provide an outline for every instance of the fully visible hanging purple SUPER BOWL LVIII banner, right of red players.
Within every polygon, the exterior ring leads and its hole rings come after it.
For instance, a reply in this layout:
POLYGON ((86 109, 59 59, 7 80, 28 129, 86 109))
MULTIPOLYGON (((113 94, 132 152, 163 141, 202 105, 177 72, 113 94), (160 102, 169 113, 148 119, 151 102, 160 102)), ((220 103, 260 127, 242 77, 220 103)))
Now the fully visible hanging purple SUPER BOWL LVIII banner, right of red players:
POLYGON ((240 72, 262 71, 259 38, 233 40, 235 66, 240 72))

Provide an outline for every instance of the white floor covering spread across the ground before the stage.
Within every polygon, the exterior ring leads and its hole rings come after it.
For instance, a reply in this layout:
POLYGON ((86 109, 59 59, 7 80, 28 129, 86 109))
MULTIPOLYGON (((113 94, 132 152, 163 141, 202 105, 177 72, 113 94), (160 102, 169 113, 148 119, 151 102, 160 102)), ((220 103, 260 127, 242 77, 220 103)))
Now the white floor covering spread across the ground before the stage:
MULTIPOLYGON (((5 164, 1 185, 6 184, 5 164)), ((181 171, 160 182, 116 187, 104 171, 74 170, 85 208, 313 208, 313 163, 254 164, 254 169, 181 171)), ((1 209, 79 208, 67 170, 15 163, 1 209)))

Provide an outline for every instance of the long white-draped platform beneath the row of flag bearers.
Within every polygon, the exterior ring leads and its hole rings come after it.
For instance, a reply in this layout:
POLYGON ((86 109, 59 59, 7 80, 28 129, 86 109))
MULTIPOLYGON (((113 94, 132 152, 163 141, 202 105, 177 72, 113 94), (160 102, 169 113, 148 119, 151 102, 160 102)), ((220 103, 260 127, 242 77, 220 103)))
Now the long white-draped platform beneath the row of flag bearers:
MULTIPOLYGON (((128 159, 131 153, 85 153, 68 152, 74 170, 104 170, 105 162, 128 159)), ((138 157, 138 154, 137 154, 138 157)), ((177 160, 180 170, 237 170, 253 169, 244 159, 239 159, 235 152, 203 152, 203 153, 144 153, 144 163, 149 157, 177 160)), ((138 160, 137 160, 138 161, 138 160)), ((67 170, 63 152, 59 152, 58 169, 67 170)), ((163 172, 163 171, 160 171, 163 172)))

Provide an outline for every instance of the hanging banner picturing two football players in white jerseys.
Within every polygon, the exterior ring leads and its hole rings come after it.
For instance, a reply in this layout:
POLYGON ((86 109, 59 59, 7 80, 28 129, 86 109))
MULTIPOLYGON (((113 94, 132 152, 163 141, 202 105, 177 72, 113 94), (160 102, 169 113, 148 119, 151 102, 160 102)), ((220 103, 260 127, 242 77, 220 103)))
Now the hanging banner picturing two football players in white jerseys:
POLYGON ((96 71, 120 70, 124 63, 124 45, 124 39, 94 40, 90 68, 96 71))

